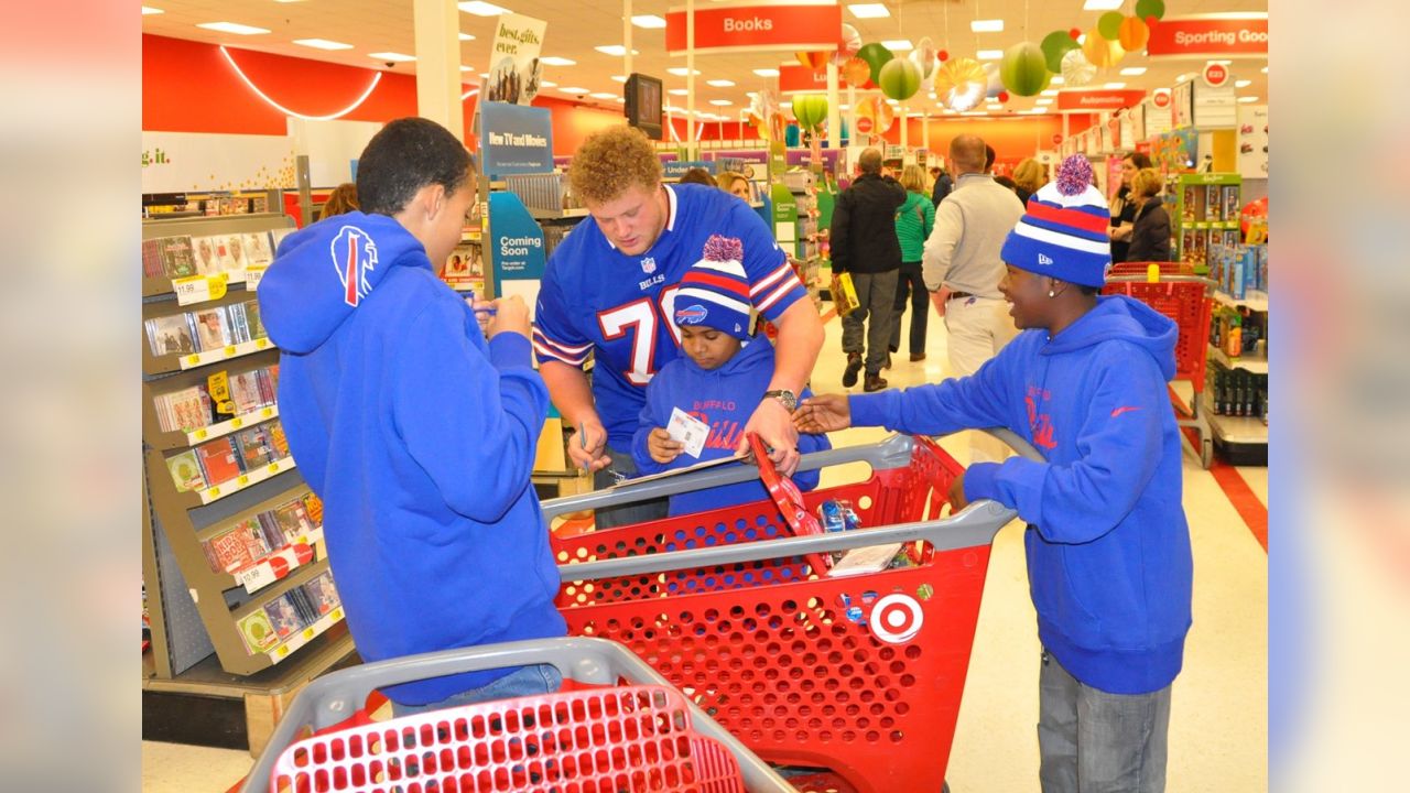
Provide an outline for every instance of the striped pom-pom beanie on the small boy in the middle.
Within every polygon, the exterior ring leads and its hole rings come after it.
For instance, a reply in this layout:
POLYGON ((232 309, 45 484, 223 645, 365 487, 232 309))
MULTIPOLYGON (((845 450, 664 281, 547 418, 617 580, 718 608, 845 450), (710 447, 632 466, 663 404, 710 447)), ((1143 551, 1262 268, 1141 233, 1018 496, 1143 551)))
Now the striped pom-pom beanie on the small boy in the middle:
POLYGON ((712 234, 705 255, 681 278, 675 292, 675 325, 699 325, 749 339, 749 277, 744 246, 735 237, 712 234))

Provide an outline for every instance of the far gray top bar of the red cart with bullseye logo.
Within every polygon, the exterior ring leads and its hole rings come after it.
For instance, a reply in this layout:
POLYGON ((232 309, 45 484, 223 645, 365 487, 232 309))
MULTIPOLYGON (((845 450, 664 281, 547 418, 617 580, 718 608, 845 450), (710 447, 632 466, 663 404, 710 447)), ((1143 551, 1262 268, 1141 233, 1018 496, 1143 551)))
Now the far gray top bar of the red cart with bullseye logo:
MULTIPOLYGON (((984 432, 1003 440, 1029 460, 1043 460, 1038 450, 1008 429, 990 428, 984 432)), ((870 464, 871 470, 901 468, 911 463, 912 449, 915 449, 915 440, 911 436, 893 435, 891 437, 877 443, 849 446, 846 449, 828 449, 825 452, 804 454, 798 463, 798 470, 814 471, 828 466, 842 466, 859 461, 870 464)), ((558 515, 581 512, 584 509, 601 509, 603 507, 618 507, 620 504, 632 504, 636 501, 650 501, 675 495, 678 492, 692 492, 697 490, 737 484, 757 478, 759 468, 754 466, 721 466, 718 468, 708 468, 694 474, 681 474, 678 477, 649 481, 642 485, 633 485, 632 480, 626 480, 619 485, 605 490, 553 498, 550 501, 544 501, 541 508, 544 521, 551 521, 558 515)))

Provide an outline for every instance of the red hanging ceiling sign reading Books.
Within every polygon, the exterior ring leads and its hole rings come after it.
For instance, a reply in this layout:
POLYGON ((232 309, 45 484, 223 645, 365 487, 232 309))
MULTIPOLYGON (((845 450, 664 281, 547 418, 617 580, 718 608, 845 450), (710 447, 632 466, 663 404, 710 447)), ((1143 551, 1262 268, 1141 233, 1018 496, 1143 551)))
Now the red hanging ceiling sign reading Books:
MULTIPOLYGON (((835 49, 840 30, 835 3, 695 8, 697 51, 835 49)), ((685 8, 666 14, 666 51, 685 54, 685 8)))

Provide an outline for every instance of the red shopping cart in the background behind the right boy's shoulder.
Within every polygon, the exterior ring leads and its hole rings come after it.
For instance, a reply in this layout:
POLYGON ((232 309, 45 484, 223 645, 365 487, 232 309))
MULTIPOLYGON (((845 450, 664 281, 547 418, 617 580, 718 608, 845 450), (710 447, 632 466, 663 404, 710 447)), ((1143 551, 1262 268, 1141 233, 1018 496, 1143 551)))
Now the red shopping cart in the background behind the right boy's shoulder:
MULTIPOLYGON (((1134 265, 1144 267, 1144 265, 1134 265)), ((1175 408, 1176 423, 1194 430, 1198 439, 1196 447, 1184 433, 1180 439, 1190 444, 1200 464, 1206 468, 1214 460, 1214 437, 1210 422, 1201 412, 1204 395, 1204 370, 1208 364, 1210 317, 1214 312, 1214 281, 1197 275, 1172 275, 1162 272, 1158 281, 1149 281, 1142 274, 1117 274, 1107 277, 1103 295, 1127 295, 1146 303, 1152 309, 1175 320, 1179 336, 1175 340, 1175 378, 1187 380, 1193 389, 1189 406, 1170 388, 1170 404, 1175 408)))

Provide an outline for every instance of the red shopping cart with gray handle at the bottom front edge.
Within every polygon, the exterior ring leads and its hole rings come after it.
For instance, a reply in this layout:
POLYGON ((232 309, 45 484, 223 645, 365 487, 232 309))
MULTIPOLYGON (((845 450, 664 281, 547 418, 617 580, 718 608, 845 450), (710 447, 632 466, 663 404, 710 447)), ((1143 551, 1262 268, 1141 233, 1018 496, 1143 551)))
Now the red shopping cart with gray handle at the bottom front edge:
POLYGON ((719 724, 615 642, 506 642, 369 663, 295 697, 243 792, 791 793, 719 724), (580 690, 345 727, 384 686, 553 663, 580 690), (616 686, 619 680, 643 686, 616 686), (298 742, 296 742, 298 741, 298 742))

